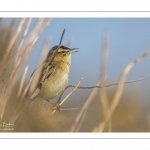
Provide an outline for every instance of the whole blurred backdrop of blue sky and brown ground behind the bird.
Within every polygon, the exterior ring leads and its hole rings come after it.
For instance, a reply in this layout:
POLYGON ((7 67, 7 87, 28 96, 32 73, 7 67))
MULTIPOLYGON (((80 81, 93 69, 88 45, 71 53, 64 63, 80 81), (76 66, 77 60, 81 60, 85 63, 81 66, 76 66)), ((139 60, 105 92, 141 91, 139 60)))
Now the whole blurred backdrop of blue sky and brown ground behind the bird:
MULTIPOLYGON (((29 32, 30 35, 35 27, 37 18, 33 18, 29 32)), ((1 43, 3 34, 7 32, 12 18, 3 18, 0 22, 1 43)), ((15 26, 21 21, 17 18, 15 26)), ((106 83, 116 83, 124 68, 147 49, 150 48, 150 19, 149 18, 53 18, 44 32, 40 35, 31 53, 28 55, 23 68, 29 65, 25 83, 31 73, 39 64, 41 51, 45 40, 48 41, 48 53, 53 46, 58 45, 63 29, 66 29, 62 45, 67 45, 69 39, 73 39, 70 48, 79 48, 78 53, 72 55, 70 68, 70 84, 77 84, 83 78, 81 86, 94 86, 100 78, 100 63, 103 44, 103 35, 109 36, 109 54, 106 67, 106 83)), ((14 33, 15 30, 12 32, 14 33)), ((19 44, 19 39, 16 45, 19 44)), ((9 42, 8 42, 9 44, 9 42)), ((42 60, 44 60, 42 57, 42 60)), ((150 57, 135 65, 129 72, 126 81, 137 80, 150 75, 150 57)), ((23 73, 22 69, 22 72, 23 73)), ((16 84, 17 92, 19 81, 16 84)), ((2 89, 2 87, 1 87, 2 89)), ((116 86, 108 87, 107 96, 109 102, 113 98, 116 86)), ((112 132, 149 132, 150 130, 150 79, 127 84, 124 86, 123 95, 119 105, 112 115, 112 132)), ((68 89, 65 97, 72 88, 68 89)), ((15 132, 69 132, 81 107, 90 96, 92 89, 77 89, 75 93, 61 106, 65 108, 79 108, 77 110, 61 110, 51 116, 48 103, 41 106, 42 101, 34 103, 30 113, 23 113, 14 125, 15 132), (40 105, 39 105, 40 104, 40 105)), ((12 94, 13 95, 13 94, 12 94)), ((58 97, 57 97, 58 98, 58 97)), ((53 101, 57 100, 55 98, 53 101)), ((13 99, 11 97, 11 99, 13 99)), ((19 101, 19 99, 17 100, 19 101)), ((9 122, 12 108, 15 102, 9 100, 4 114, 3 122, 9 122)), ((103 108, 99 92, 95 95, 79 132, 92 132, 103 120, 103 108)), ((107 130, 105 130, 107 132, 107 130)))

